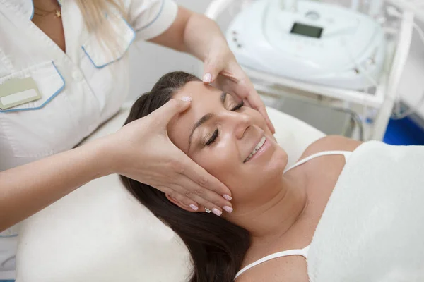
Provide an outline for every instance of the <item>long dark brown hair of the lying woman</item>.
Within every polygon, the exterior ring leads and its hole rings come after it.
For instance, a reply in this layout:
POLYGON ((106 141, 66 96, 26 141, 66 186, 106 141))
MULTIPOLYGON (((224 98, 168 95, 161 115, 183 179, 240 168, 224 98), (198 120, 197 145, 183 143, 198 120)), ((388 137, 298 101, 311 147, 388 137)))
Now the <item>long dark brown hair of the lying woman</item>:
MULTIPOLYGON (((151 92, 137 99, 125 124, 151 114, 190 81, 201 80, 183 72, 163 75, 151 92)), ((234 280, 250 245, 249 233, 244 228, 212 214, 187 212, 167 200, 160 190, 125 176, 120 177, 129 192, 170 226, 187 245, 194 265, 190 282, 234 280)))

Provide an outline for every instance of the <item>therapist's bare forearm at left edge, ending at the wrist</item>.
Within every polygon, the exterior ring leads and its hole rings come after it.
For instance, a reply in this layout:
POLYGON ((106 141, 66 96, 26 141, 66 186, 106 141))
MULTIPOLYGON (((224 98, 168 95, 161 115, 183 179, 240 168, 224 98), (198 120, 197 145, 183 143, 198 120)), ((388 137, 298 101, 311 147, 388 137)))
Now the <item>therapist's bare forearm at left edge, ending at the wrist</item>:
POLYGON ((26 219, 90 180, 105 176, 101 142, 0 172, 0 231, 26 219))

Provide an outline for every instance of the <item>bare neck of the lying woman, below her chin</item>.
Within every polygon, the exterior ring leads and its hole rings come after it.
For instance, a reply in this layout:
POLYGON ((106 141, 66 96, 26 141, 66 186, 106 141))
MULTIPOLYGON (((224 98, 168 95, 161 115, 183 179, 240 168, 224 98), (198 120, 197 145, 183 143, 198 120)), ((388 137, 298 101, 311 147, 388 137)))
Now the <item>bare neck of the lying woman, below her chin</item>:
POLYGON ((237 215, 232 220, 247 229, 252 243, 272 243, 281 238, 302 217, 307 207, 307 180, 285 177, 277 184, 276 195, 259 207, 237 215))

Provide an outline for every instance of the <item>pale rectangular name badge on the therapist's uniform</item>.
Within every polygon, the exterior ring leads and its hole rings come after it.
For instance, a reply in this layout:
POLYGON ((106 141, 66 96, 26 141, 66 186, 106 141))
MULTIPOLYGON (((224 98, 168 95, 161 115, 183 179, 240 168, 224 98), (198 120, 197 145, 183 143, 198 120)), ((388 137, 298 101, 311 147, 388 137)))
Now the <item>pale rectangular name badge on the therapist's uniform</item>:
POLYGON ((12 78, 0 84, 0 109, 6 110, 41 98, 33 78, 12 78))

